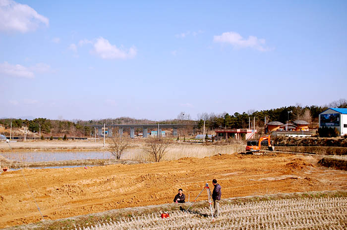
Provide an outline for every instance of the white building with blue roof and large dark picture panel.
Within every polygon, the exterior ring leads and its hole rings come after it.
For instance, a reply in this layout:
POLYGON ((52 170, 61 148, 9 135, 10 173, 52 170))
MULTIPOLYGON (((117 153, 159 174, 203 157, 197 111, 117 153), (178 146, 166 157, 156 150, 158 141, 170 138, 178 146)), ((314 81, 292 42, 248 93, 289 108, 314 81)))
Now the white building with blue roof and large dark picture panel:
POLYGON ((347 134, 347 108, 329 108, 319 114, 319 127, 337 128, 344 136, 347 134))

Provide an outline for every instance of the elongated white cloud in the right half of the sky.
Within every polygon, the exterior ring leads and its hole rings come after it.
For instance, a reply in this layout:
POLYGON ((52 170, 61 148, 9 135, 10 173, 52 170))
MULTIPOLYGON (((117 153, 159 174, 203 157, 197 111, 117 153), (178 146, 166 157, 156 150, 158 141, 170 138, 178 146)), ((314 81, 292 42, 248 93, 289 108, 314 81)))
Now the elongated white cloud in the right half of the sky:
POLYGON ((242 36, 236 32, 225 32, 222 35, 214 36, 213 41, 216 43, 229 43, 236 48, 249 47, 259 51, 269 50, 264 47, 265 39, 258 39, 255 36, 248 36, 248 39, 243 39, 242 36))

